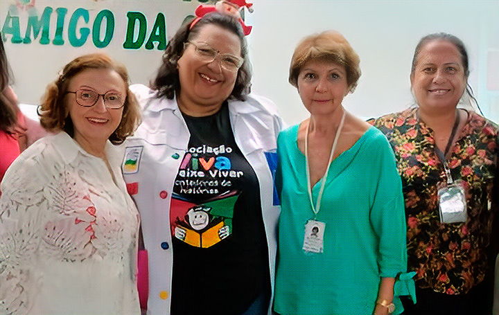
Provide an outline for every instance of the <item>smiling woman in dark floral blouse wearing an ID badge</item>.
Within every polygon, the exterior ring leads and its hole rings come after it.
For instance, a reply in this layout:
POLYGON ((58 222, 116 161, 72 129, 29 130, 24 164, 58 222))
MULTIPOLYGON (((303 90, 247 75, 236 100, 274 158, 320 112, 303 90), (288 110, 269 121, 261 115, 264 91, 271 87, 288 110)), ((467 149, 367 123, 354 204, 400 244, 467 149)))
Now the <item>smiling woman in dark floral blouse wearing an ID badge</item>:
POLYGON ((490 312, 484 278, 499 129, 457 108, 464 93, 474 99, 468 77, 460 39, 423 37, 410 74, 417 106, 374 122, 392 145, 403 181, 408 264, 417 271, 417 303, 404 303, 404 314, 490 312))

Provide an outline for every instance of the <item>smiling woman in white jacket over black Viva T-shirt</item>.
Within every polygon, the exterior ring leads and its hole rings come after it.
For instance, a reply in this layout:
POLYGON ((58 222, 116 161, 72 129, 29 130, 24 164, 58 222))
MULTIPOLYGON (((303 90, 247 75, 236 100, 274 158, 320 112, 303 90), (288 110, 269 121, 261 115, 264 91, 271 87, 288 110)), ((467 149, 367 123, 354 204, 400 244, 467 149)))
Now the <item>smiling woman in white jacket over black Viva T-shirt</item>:
POLYGON ((170 39, 123 174, 141 211, 151 314, 267 314, 279 206, 274 105, 249 94, 239 21, 211 13, 170 39))

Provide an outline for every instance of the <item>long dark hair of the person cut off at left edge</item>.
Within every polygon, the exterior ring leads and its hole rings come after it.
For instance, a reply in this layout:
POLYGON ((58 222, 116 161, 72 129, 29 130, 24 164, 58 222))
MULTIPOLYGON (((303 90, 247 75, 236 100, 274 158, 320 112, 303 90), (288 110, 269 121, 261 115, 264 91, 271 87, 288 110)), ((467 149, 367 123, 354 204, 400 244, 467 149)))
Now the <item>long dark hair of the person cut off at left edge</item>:
POLYGON ((17 112, 15 105, 11 104, 10 100, 3 94, 10 83, 10 69, 1 38, 0 34, 0 131, 10 134, 12 127, 17 123, 17 112))

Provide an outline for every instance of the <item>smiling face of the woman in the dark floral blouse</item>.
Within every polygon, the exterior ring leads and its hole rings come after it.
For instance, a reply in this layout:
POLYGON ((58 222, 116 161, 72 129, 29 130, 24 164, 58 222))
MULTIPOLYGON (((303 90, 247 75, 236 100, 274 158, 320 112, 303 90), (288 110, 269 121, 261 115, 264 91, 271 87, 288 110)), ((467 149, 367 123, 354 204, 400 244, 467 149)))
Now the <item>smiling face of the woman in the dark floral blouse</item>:
POLYGON ((457 47, 441 39, 421 48, 410 79, 419 107, 437 112, 455 109, 467 80, 457 47))

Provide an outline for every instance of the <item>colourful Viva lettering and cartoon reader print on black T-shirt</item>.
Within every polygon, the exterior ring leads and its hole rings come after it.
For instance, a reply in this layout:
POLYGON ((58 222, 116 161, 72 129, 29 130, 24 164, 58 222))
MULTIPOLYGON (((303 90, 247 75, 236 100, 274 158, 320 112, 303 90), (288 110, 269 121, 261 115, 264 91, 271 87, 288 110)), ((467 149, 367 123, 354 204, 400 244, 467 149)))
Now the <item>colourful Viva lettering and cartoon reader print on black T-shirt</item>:
POLYGON ((236 182, 244 177, 244 172, 237 170, 238 159, 227 145, 189 148, 170 203, 173 237, 208 248, 231 235, 234 205, 240 195, 236 182))

